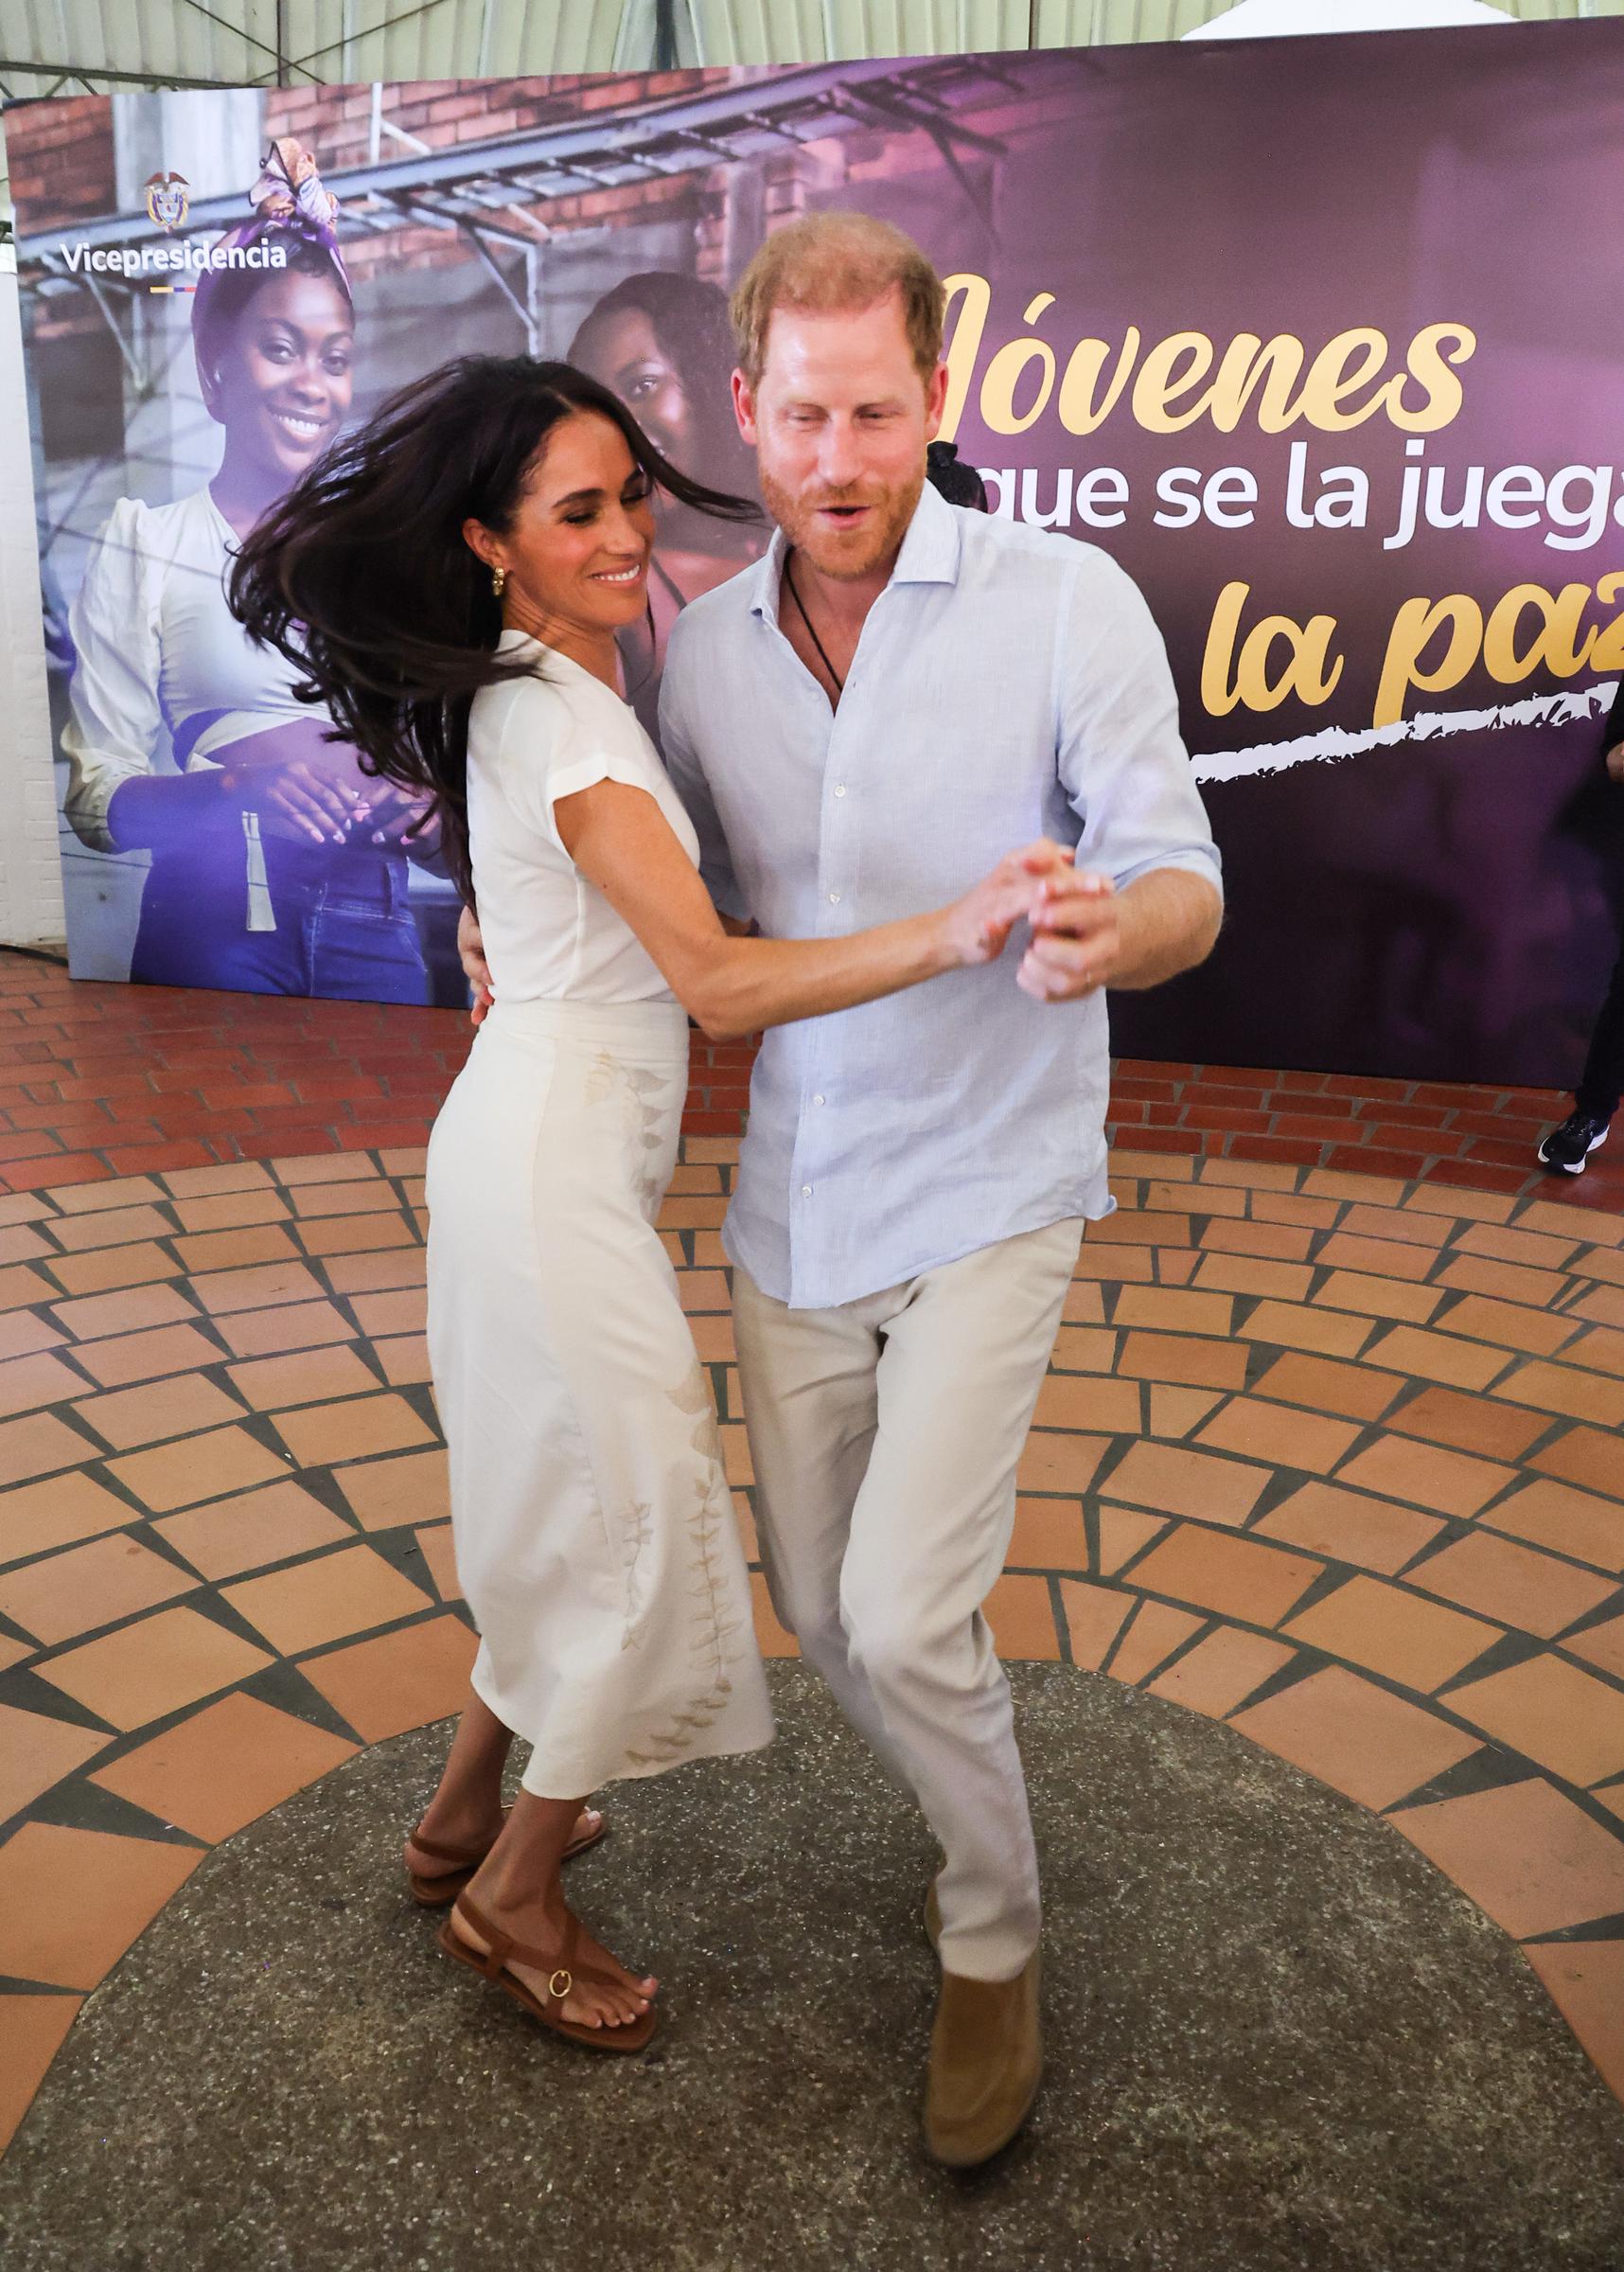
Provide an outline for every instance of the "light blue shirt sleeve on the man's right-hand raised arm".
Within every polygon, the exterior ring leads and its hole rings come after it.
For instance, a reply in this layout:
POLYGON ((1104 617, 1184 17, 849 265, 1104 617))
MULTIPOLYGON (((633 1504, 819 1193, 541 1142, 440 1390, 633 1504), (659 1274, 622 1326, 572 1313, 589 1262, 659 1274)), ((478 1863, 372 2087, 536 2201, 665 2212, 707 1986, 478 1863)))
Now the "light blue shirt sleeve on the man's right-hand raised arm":
POLYGON ((1213 829, 1179 734, 1167 648, 1138 584, 1088 548, 1063 600, 1056 747, 1083 825, 1077 866, 1117 886, 1156 868, 1204 875, 1222 895, 1213 829))

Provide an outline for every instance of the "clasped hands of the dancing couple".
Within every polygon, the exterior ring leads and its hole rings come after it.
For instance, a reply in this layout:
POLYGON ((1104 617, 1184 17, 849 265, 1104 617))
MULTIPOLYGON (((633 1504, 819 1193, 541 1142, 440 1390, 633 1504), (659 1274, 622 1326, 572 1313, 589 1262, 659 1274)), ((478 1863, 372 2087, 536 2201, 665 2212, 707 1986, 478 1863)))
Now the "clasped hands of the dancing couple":
POLYGON ((1106 986, 1122 961, 1115 884, 1072 866, 1070 845, 1047 836, 1006 854, 974 891, 947 909, 963 963, 995 963, 1020 920, 1031 941, 1015 984, 1036 1002, 1077 1002, 1106 986))

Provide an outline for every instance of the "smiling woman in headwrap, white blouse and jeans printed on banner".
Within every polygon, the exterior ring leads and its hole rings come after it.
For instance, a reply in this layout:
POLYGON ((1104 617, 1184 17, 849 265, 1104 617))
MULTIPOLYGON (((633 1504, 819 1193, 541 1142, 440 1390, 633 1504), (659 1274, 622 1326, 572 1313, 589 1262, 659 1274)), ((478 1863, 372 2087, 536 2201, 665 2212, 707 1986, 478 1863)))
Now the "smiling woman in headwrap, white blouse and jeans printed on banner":
MULTIPOLYGON (((427 1002, 407 854, 427 807, 368 782, 295 673, 243 638, 225 575, 350 414, 354 309, 336 202, 279 141, 191 309, 220 470, 173 504, 125 498, 73 607, 66 816, 98 852, 148 850, 129 977, 148 986, 427 1002), (154 772, 168 729, 179 772, 154 772)), ((432 836, 427 843, 432 845, 432 836)))

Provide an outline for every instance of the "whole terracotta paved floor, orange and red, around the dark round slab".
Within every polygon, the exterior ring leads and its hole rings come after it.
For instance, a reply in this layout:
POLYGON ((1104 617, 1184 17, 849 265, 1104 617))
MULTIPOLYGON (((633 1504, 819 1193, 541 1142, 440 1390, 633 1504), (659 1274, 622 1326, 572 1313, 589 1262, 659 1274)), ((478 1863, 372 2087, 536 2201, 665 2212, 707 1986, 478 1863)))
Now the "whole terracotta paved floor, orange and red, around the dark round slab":
MULTIPOLYGON (((0 2138, 214 1843, 457 1706, 420 1177, 463 1045, 450 1013, 0 957, 0 2138)), ((747 1061, 695 1052, 665 1241, 750 1531, 718 1243, 747 1061)), ((1004 1654, 1227 1718, 1388 1815, 1624 2093, 1619 1184, 1524 1172, 1551 1097, 1117 1086, 1004 1654)))

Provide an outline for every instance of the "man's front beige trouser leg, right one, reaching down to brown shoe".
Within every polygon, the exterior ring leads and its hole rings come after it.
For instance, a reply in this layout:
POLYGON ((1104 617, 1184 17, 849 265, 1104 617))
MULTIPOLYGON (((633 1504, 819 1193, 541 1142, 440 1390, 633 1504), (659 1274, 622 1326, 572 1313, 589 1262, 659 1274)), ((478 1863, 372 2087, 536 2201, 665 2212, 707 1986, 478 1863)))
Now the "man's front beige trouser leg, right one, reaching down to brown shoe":
POLYGON ((879 1361, 879 1425, 852 1511, 840 1615, 852 1663, 943 1847, 943 1970, 1011 1981, 1040 1931, 1013 1706, 981 1613, 1054 1350, 1081 1222, 918 1279, 879 1361))

